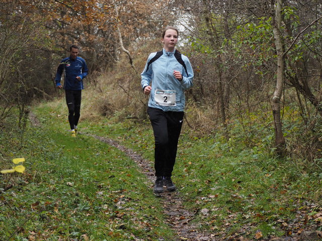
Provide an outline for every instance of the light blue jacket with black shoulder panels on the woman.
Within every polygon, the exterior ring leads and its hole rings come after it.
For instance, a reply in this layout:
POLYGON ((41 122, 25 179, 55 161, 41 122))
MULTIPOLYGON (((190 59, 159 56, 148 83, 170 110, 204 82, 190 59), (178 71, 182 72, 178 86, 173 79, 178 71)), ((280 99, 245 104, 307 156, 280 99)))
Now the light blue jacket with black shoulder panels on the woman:
POLYGON ((185 68, 178 62, 174 53, 175 51, 166 52, 166 50, 163 49, 163 55, 152 62, 148 69, 146 69, 147 64, 150 59, 156 55, 156 53, 151 53, 147 58, 144 70, 141 73, 141 86, 142 89, 144 89, 147 85, 152 83, 152 89, 148 101, 149 107, 159 108, 164 111, 184 111, 186 103, 185 90, 193 86, 193 70, 188 57, 181 55, 182 60, 185 62, 187 67, 187 75, 185 68), (174 70, 181 72, 181 81, 176 79, 173 75, 174 70), (175 103, 173 101, 171 104, 169 103, 169 105, 167 105, 167 99, 169 100, 170 98, 165 94, 160 95, 160 93, 167 93, 169 96, 175 94, 175 103), (157 98, 156 100, 155 97, 157 98), (164 101, 158 101, 160 98, 164 99, 164 101))

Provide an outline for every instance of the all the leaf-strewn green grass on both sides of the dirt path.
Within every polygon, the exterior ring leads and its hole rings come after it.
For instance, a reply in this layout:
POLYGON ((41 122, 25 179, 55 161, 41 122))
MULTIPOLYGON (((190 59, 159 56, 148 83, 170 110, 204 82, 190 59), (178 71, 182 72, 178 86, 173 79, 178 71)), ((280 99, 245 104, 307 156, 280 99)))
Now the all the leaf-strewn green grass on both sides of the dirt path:
MULTIPOLYGON (((73 139, 63 101, 42 104, 35 112, 42 127, 10 154, 26 158, 27 172, 0 176, 16 183, 0 195, 4 240, 175 240, 136 164, 86 135, 118 140, 153 162, 147 121, 82 119, 78 127, 83 135, 73 139)), ((19 138, 11 142, 19 146, 19 138)), ((10 155, 3 159, 9 162, 10 155)), ((273 158, 220 136, 200 138, 184 130, 173 180, 185 207, 196 213, 192 222, 198 228, 223 240, 253 238, 260 230, 269 240, 321 228, 313 221, 322 211, 319 172, 307 166, 302 160, 273 158)))

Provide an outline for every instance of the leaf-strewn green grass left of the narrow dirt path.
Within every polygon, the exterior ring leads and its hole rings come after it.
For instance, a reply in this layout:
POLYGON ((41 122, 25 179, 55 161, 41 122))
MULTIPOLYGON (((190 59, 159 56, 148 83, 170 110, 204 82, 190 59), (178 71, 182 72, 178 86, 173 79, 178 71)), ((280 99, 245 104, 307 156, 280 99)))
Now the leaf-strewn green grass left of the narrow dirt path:
POLYGON ((26 172, 0 176, 1 240, 175 240, 132 160, 94 138, 70 137, 48 108, 39 114, 42 126, 3 152, 2 168, 25 157, 26 172))

